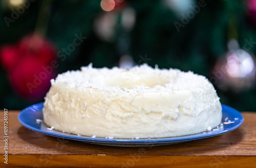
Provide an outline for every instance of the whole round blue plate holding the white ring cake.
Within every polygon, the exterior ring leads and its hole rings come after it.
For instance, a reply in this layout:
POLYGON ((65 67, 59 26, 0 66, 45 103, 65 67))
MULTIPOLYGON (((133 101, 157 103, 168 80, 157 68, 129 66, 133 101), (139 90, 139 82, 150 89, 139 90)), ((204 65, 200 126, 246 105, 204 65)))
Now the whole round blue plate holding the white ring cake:
POLYGON ((48 130, 47 128, 49 127, 46 126, 44 122, 36 122, 36 119, 42 120, 43 106, 43 103, 38 103, 22 110, 18 115, 18 121, 26 128, 42 134, 107 146, 146 147, 170 145, 173 143, 179 143, 188 140, 196 140, 221 135, 237 129, 244 122, 244 117, 239 111, 231 107, 222 105, 222 123, 220 126, 218 126, 218 128, 212 129, 211 131, 186 136, 152 139, 106 139, 98 137, 92 138, 90 136, 78 136, 75 134, 69 134, 57 130, 48 130))

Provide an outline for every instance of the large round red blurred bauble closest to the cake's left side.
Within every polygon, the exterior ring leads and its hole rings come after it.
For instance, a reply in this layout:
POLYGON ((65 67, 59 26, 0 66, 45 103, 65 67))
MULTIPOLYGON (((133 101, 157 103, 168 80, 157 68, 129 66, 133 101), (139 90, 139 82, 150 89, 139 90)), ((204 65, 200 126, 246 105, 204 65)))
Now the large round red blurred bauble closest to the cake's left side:
POLYGON ((14 91, 32 102, 44 98, 51 86, 50 80, 56 77, 55 71, 48 71, 46 67, 49 66, 37 59, 23 60, 9 75, 14 91))

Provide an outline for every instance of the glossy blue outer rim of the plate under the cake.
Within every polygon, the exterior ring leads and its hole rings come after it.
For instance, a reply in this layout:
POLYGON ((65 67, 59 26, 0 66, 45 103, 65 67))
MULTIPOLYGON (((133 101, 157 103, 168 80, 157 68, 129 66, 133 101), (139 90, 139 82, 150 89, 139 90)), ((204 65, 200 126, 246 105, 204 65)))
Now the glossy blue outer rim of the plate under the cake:
MULTIPOLYGON (((116 144, 135 144, 136 145, 136 144, 184 142, 184 141, 203 139, 203 138, 208 138, 208 137, 213 137, 213 136, 218 136, 218 135, 221 135, 221 134, 224 134, 224 133, 228 133, 230 131, 233 131, 233 130, 236 130, 237 128, 239 128, 244 122, 244 117, 243 117, 242 113, 240 113, 238 110, 236 110, 232 107, 221 104, 222 114, 223 114, 223 109, 224 109, 224 111, 229 110, 231 112, 237 113, 239 115, 237 117, 241 117, 241 119, 240 119, 240 122, 238 124, 228 128, 228 129, 224 129, 220 132, 205 133, 204 135, 201 135, 201 136, 196 136, 198 134, 202 134, 202 133, 197 133, 197 134, 190 134, 190 135, 177 136, 177 137, 151 138, 151 139, 148 139, 148 138, 140 138, 140 139, 113 138, 113 139, 108 139, 108 138, 101 138, 101 137, 92 138, 90 136, 77 136, 75 134, 69 134, 69 133, 66 133, 67 135, 60 135, 60 134, 57 134, 57 133, 42 131, 40 129, 32 127, 31 125, 26 124, 23 121, 23 119, 21 118, 22 115, 24 115, 24 113, 27 112, 28 110, 38 112, 39 114, 42 115, 43 106, 44 106, 44 102, 40 102, 40 103, 37 103, 37 104, 33 104, 33 105, 23 109, 22 111, 20 111, 19 114, 18 114, 19 123, 22 124, 24 127, 28 128, 29 130, 32 130, 32 131, 35 131, 35 132, 38 132, 38 133, 41 133, 41 134, 50 135, 50 136, 59 137, 59 138, 66 138, 66 139, 71 139, 71 140, 93 142, 93 143, 116 143, 116 144), (38 109, 38 107, 39 107, 39 109, 38 109), (33 110, 33 108, 35 108, 35 109, 33 110), (70 136, 70 135, 73 135, 73 136, 70 136), (192 136, 192 137, 187 137, 187 136, 192 136), (172 139, 170 139, 170 138, 172 138, 172 139)), ((225 112, 225 113, 227 113, 227 112, 225 112)), ((40 118, 38 118, 38 119, 40 119, 40 118)), ((222 120, 223 120, 223 115, 222 115, 222 120)), ((36 122, 36 121, 33 121, 33 122, 36 122)), ((42 122, 44 122, 44 121, 42 121, 42 122)), ((42 123, 40 123, 40 125, 41 124, 42 123)), ((45 123, 44 123, 44 125, 45 125, 45 123)), ((45 126, 47 127, 47 125, 45 125, 45 126)), ((58 131, 58 130, 54 130, 54 131, 59 132, 59 133, 63 133, 63 132, 58 131)))

